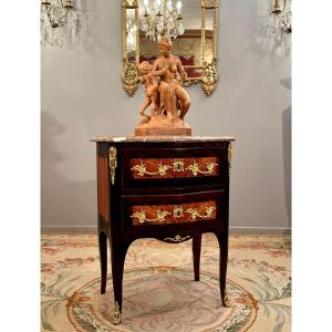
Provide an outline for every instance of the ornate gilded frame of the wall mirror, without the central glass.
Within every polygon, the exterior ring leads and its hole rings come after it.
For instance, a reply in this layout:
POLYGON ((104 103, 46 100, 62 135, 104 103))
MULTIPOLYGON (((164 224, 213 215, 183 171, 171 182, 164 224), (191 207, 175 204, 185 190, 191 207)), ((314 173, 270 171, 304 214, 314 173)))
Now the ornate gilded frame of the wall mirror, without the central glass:
MULTIPOLYGON (((218 24, 218 2, 219 0, 197 0, 200 1, 200 56, 203 63, 203 74, 200 77, 188 77, 181 81, 184 86, 201 83, 201 87, 207 96, 217 87, 217 24, 218 24), (212 11, 212 59, 206 61, 206 15, 207 11, 212 11)), ((124 70, 122 72, 123 86, 125 92, 133 96, 138 87, 138 64, 139 64, 139 18, 138 18, 138 0, 122 0, 123 15, 123 62, 124 70), (134 35, 135 55, 128 58, 127 39, 128 39, 128 10, 134 10, 134 24, 137 27, 134 35)), ((132 35, 133 38, 133 35, 132 35)), ((176 54, 175 54, 176 55, 176 54)))

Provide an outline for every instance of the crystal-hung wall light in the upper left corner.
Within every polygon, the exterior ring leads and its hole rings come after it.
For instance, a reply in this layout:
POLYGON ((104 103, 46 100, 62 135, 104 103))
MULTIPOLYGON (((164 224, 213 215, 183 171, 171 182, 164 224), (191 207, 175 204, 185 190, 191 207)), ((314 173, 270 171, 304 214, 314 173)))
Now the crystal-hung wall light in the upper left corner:
POLYGON ((80 22, 72 0, 41 0, 41 43, 65 48, 77 42, 80 22))

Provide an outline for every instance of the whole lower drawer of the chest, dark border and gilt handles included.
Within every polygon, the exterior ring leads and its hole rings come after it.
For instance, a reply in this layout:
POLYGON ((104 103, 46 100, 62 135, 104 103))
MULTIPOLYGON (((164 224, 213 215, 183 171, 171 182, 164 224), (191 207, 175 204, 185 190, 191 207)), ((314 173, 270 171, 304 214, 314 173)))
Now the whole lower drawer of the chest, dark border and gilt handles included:
POLYGON ((228 201, 224 190, 181 195, 124 196, 123 236, 149 237, 160 231, 208 231, 226 225, 228 201))

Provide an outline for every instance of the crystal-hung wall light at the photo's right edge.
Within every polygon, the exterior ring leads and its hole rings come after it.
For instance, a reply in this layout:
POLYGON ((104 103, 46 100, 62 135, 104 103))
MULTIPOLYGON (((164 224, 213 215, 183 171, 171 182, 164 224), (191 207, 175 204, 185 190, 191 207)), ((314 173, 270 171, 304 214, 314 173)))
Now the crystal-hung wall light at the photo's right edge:
POLYGON ((271 14, 267 34, 274 37, 278 41, 288 40, 292 32, 291 0, 274 0, 271 14))

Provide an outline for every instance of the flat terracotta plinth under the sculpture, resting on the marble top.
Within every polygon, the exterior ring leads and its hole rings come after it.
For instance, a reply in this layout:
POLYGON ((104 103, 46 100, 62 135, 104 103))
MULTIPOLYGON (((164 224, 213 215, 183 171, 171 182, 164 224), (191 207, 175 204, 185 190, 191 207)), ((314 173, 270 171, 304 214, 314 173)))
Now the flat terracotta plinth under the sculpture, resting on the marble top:
POLYGON ((191 128, 183 126, 144 126, 135 128, 135 136, 191 136, 191 128))

